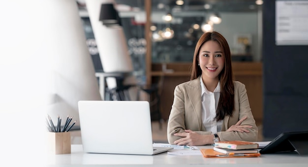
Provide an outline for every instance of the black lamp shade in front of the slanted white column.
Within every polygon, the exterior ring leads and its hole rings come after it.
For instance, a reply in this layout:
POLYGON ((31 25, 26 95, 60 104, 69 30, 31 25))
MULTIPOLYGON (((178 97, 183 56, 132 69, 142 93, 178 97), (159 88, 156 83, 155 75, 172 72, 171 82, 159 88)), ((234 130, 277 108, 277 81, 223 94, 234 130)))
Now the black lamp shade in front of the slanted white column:
POLYGON ((101 4, 99 21, 105 26, 121 26, 121 19, 112 3, 101 4))

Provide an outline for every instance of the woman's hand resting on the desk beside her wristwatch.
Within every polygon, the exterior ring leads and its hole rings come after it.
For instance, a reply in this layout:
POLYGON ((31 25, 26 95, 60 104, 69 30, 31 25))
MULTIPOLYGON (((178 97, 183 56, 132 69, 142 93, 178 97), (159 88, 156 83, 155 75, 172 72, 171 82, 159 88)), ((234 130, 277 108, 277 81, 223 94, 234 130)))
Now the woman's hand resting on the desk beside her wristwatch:
POLYGON ((175 133, 174 136, 183 137, 174 141, 174 144, 177 145, 205 145, 208 144, 206 136, 210 135, 200 135, 194 131, 185 130, 185 133, 175 133))

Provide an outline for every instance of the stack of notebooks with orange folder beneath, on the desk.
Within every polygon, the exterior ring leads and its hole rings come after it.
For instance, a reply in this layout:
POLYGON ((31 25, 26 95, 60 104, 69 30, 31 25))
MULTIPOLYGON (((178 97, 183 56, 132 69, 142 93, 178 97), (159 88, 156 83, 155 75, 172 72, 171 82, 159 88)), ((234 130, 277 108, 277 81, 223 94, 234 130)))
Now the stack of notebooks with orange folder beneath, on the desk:
POLYGON ((213 149, 201 149, 204 157, 258 157, 259 144, 248 141, 215 142, 213 149))

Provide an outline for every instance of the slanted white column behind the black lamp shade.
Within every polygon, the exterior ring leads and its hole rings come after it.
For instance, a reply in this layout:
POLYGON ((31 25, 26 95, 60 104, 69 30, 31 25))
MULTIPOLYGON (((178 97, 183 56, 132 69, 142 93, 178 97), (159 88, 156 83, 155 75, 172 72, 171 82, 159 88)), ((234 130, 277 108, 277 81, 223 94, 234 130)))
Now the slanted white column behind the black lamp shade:
MULTIPOLYGON (((114 3, 113 0, 85 0, 93 29, 97 49, 102 62, 104 72, 132 72, 133 65, 128 54, 128 47, 123 28, 107 28, 99 21, 101 4, 114 3)), ((136 78, 128 77, 124 83, 134 84, 136 78)), ((109 88, 116 87, 114 78, 107 78, 109 88)), ((131 90, 134 96, 136 90, 131 90)), ((134 98, 132 98, 134 99, 134 98)))

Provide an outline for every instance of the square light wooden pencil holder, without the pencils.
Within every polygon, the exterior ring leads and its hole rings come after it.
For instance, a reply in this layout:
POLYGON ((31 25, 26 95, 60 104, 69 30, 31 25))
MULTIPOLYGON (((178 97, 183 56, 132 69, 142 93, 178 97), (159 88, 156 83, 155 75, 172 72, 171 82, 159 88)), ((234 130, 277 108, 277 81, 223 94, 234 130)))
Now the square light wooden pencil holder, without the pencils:
POLYGON ((49 151, 53 154, 70 154, 70 132, 48 132, 49 151))

